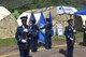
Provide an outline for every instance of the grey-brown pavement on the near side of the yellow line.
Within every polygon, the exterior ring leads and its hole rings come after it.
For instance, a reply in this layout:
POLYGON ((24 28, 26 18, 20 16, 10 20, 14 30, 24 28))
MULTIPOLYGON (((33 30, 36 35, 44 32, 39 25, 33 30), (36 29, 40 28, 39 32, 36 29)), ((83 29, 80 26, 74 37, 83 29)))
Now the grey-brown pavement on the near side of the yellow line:
MULTIPOLYGON (((66 44, 54 46, 52 49, 39 48, 39 52, 32 53, 32 57, 64 57, 66 44)), ((1 54, 0 57, 19 57, 18 49, 1 54)), ((86 46, 75 44, 74 57, 86 57, 86 46)))

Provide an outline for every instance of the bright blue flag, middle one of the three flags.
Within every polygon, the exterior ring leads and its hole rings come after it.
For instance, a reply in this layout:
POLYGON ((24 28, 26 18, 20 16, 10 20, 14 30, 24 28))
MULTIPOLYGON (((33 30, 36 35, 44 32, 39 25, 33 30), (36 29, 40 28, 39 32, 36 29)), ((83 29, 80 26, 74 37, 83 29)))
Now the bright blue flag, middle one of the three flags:
MULTIPOLYGON (((40 20, 39 20, 39 28, 44 27, 45 24, 46 24, 46 20, 44 18, 43 12, 41 12, 41 17, 40 17, 40 20)), ((45 29, 40 30, 40 32, 39 32, 39 41, 45 43, 45 29)))

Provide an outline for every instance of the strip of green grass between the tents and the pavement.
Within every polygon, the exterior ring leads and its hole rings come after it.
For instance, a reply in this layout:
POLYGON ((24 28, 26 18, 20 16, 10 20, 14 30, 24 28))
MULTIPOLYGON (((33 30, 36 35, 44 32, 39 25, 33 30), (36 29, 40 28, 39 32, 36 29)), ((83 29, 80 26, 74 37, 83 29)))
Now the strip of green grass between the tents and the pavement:
MULTIPOLYGON (((76 41, 81 40, 83 38, 83 32, 77 32, 75 34, 76 41)), ((59 41, 59 40, 66 40, 66 37, 58 37, 54 35, 53 40, 59 41)), ((16 45, 16 40, 14 38, 9 38, 9 39, 0 39, 0 46, 8 46, 8 45, 16 45)))

